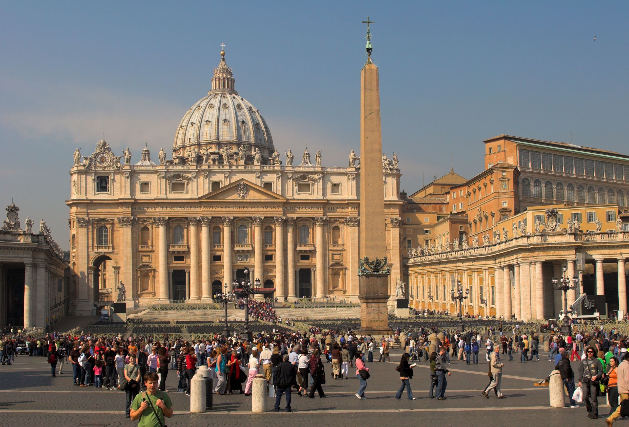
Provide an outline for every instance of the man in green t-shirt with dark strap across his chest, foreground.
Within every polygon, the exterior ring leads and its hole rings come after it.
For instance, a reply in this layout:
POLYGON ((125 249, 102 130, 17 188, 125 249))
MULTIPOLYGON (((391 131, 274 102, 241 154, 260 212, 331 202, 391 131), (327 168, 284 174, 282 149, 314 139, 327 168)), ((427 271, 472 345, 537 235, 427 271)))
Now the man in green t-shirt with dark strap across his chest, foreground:
POLYGON ((138 427, 159 427, 164 424, 164 416, 172 416, 170 397, 157 391, 157 379, 155 372, 147 372, 144 375, 147 391, 135 396, 131 404, 130 416, 133 421, 140 420, 138 427))

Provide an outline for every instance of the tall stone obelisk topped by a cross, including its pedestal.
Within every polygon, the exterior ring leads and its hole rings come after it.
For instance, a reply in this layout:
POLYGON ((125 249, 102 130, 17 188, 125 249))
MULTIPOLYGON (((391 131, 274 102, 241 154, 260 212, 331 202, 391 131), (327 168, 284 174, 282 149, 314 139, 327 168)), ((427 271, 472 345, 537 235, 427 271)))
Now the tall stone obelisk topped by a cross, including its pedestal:
POLYGON ((371 60, 367 24, 367 63, 360 71, 360 333, 391 333, 387 321, 389 269, 386 265, 382 135, 378 67, 371 60), (365 259, 368 258, 368 259, 365 259), (374 263, 375 261, 375 263, 374 263), (375 267, 375 268, 374 268, 375 267))

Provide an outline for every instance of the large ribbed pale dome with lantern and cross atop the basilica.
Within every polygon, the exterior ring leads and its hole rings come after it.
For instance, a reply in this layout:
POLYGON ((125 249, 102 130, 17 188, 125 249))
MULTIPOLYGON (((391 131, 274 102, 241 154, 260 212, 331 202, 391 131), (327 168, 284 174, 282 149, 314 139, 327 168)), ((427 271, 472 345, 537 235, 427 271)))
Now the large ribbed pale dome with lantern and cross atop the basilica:
POLYGON ((238 94, 234 82, 223 50, 220 64, 214 69, 212 89, 186 111, 177 127, 172 146, 175 162, 177 159, 189 162, 188 153, 192 149, 218 153, 223 146, 238 150, 245 145, 248 153, 252 152, 252 146, 258 147, 263 157, 273 152, 267 123, 260 111, 238 94))

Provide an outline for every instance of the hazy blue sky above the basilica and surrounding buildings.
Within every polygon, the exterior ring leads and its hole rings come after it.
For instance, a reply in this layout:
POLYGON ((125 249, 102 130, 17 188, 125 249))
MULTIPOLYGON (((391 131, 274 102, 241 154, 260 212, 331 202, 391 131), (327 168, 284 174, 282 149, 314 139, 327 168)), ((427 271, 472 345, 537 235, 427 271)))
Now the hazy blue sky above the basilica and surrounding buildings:
POLYGON ((280 152, 359 148, 367 14, 382 145, 411 192, 506 133, 629 153, 627 2, 0 3, 0 203, 67 248, 72 152, 170 152, 225 43, 280 152), (594 42, 596 36, 596 42, 594 42), (423 178, 424 177, 424 178, 423 178))

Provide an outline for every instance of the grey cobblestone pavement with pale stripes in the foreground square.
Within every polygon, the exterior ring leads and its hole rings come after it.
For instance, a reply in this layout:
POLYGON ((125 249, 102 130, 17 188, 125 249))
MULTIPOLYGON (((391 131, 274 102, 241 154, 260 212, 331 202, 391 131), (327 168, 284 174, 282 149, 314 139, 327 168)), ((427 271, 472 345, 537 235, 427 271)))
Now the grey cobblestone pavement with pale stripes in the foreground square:
MULTIPOLYGON (((482 355, 482 353, 481 353, 482 355)), ((216 424, 216 416, 220 417, 219 425, 234 420, 267 422, 277 419, 285 422, 296 417, 299 422, 303 416, 316 416, 320 423, 338 421, 343 413, 362 413, 366 417, 360 426, 381 425, 382 416, 400 420, 410 419, 409 416, 422 421, 438 422, 442 426, 461 426, 464 424, 487 423, 488 419, 504 420, 506 417, 518 420, 518 424, 546 423, 544 419, 564 419, 571 426, 594 425, 585 417, 584 408, 548 408, 548 388, 534 387, 533 381, 547 377, 554 365, 542 357, 538 362, 518 363, 506 360, 502 381, 503 393, 507 399, 486 399, 481 390, 488 382, 487 365, 481 357, 479 365, 466 365, 465 362, 452 360, 448 369, 452 376, 448 377, 445 401, 428 399, 430 376, 428 362, 420 362, 414 370, 411 380, 415 401, 406 399, 395 400, 394 394, 399 387, 399 374, 394 367, 399 362, 398 353, 392 354, 392 362, 368 363, 371 378, 368 380, 367 399, 359 400, 354 393, 359 387, 355 376, 355 368, 350 368, 349 379, 332 379, 331 364, 326 364, 328 377, 323 386, 327 396, 325 399, 308 399, 292 394, 294 413, 274 412, 264 415, 250 413, 250 397, 240 394, 214 396, 214 408, 205 414, 189 414, 189 397, 177 393, 177 374, 170 371, 167 389, 174 404, 175 415, 169 419, 169 426, 189 426, 190 423, 208 423, 210 419, 216 424), (340 414, 340 415, 339 415, 340 414), (377 415, 376 415, 377 414, 377 415), (465 421, 467 419, 467 421, 465 421)), ((573 362, 576 370, 577 364, 573 362)), ((0 417, 3 426, 38 426, 63 421, 73 426, 133 426, 124 417, 125 394, 121 391, 108 391, 96 387, 75 387, 72 385, 72 370, 64 369, 64 374, 51 377, 43 357, 20 356, 12 366, 0 367, 0 417)), ((58 372, 58 371, 57 371, 58 372)), ((599 402, 604 404, 604 397, 599 402)), ((273 402, 267 402, 272 411, 273 402)), ((608 406, 600 406, 599 414, 608 413, 608 406)), ((603 423, 603 420, 598 424, 603 423)), ((240 422, 240 421, 238 421, 240 422)), ((274 421, 275 422, 275 421, 274 421)), ((311 422, 311 421, 307 421, 311 422)), ((502 422, 500 422, 502 424, 502 422)))

